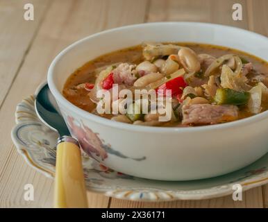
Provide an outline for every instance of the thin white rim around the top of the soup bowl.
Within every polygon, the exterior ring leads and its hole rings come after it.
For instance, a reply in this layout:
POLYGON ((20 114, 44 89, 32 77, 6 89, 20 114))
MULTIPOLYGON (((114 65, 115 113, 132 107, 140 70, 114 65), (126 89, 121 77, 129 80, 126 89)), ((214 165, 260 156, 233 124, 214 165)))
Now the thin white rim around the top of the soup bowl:
POLYGON ((247 33, 249 35, 255 35, 256 37, 262 38, 268 42, 268 37, 265 37, 264 35, 260 35, 258 33, 253 33, 251 31, 248 31, 242 28, 233 27, 233 26, 225 26, 221 24, 211 24, 211 23, 204 23, 204 22, 150 22, 150 23, 144 23, 144 24, 133 24, 133 25, 128 25, 128 26, 120 26, 117 28, 111 28, 106 31, 101 31, 99 33, 94 33, 93 35, 83 37, 81 40, 78 40, 70 44, 65 49, 60 51, 60 53, 58 53, 58 55, 53 59, 53 61, 51 62, 51 65, 49 66, 47 82, 49 84, 49 89, 51 89, 51 92, 53 96, 55 97, 56 101, 60 103, 61 105, 64 105, 65 107, 69 108, 69 110, 71 110, 72 112, 80 115, 81 117, 85 119, 94 121, 95 123, 100 123, 104 126, 108 126, 112 128, 119 128, 121 130, 131 130, 131 131, 139 131, 139 132, 146 132, 146 133, 194 133, 194 132, 201 132, 201 131, 207 131, 207 130, 221 130, 221 129, 226 129, 226 128, 237 128, 240 126, 249 125, 251 123, 256 123, 258 121, 261 121, 262 119, 267 118, 268 110, 261 112, 259 114, 255 114, 251 117, 246 117, 244 119, 239 119, 239 120, 231 121, 228 123, 208 125, 208 126, 194 126, 194 127, 139 126, 139 125, 133 125, 133 124, 128 124, 128 123, 121 123, 117 121, 111 121, 110 119, 99 117, 95 114, 82 110, 81 108, 78 108, 76 105, 72 104, 67 99, 65 99, 62 93, 56 87, 56 84, 53 81, 54 67, 56 66, 60 58, 62 58, 62 56, 64 56, 65 53, 67 53, 68 51, 71 51, 74 47, 76 47, 76 45, 82 44, 83 42, 90 40, 94 37, 98 37, 99 35, 106 35, 107 33, 120 31, 123 29, 139 28, 143 26, 159 26, 159 25, 171 26, 174 24, 192 25, 192 26, 193 25, 210 26, 210 27, 217 27, 217 28, 227 28, 229 30, 233 29, 234 31, 240 31, 240 32, 247 33))

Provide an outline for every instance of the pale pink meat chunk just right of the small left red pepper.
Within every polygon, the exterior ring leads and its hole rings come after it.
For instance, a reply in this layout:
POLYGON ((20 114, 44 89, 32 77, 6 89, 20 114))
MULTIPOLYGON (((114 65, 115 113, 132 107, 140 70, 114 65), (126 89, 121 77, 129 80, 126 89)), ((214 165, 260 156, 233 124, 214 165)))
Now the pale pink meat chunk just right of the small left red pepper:
POLYGON ((123 83, 128 86, 133 85, 136 80, 135 74, 133 73, 134 68, 135 65, 128 65, 128 63, 120 64, 116 69, 112 71, 115 83, 123 83))

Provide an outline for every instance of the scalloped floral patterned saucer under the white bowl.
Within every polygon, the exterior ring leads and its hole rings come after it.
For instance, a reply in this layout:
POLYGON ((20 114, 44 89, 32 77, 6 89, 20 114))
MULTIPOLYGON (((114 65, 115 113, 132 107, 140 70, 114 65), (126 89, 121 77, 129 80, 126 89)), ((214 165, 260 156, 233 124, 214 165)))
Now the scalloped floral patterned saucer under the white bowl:
MULTIPOLYGON (((53 178, 56 162, 57 133, 37 118, 34 96, 17 105, 17 125, 12 140, 17 151, 31 167, 53 178)), ((197 200, 233 194, 233 185, 243 191, 268 183, 268 153, 248 167, 224 176, 206 180, 168 182, 146 180, 124 175, 83 153, 83 168, 87 189, 127 200, 197 200)))

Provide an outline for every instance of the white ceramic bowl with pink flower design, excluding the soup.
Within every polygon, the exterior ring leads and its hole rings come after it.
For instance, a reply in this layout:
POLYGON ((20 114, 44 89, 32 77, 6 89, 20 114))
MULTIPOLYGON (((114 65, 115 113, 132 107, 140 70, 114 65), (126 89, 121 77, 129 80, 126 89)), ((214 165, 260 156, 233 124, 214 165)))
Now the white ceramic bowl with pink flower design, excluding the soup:
POLYGON ((268 60, 268 39, 239 28, 192 22, 125 26, 68 46, 49 67, 52 94, 83 149, 111 169, 156 180, 196 180, 235 171, 268 151, 268 112, 194 128, 133 126, 97 117, 61 94, 67 77, 85 62, 144 41, 228 46, 268 60))

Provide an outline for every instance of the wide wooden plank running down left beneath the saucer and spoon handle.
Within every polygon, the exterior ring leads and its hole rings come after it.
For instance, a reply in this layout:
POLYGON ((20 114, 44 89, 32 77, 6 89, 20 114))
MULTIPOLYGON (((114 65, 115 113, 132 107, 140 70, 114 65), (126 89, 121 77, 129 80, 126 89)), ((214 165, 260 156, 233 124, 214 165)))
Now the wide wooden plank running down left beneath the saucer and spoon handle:
MULTIPOLYGON (((44 22, 0 110, 0 207, 52 206, 52 181, 28 167, 10 140, 17 103, 33 94, 37 85, 46 79, 51 60, 65 46, 104 28, 140 23, 146 9, 143 0, 49 1, 51 6, 44 22), (33 203, 23 198, 25 183, 36 187, 33 203)), ((87 195, 90 207, 108 206, 109 198, 99 194, 87 195)))

